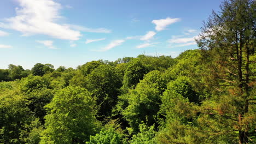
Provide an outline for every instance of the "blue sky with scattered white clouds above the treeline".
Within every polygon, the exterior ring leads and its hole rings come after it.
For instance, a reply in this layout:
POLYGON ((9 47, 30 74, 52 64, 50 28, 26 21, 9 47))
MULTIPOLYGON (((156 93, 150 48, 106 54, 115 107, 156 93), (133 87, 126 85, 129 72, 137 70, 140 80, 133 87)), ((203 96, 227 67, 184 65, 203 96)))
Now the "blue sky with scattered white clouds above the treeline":
POLYGON ((0 69, 76 68, 98 59, 172 56, 195 38, 220 0, 1 0, 0 69))

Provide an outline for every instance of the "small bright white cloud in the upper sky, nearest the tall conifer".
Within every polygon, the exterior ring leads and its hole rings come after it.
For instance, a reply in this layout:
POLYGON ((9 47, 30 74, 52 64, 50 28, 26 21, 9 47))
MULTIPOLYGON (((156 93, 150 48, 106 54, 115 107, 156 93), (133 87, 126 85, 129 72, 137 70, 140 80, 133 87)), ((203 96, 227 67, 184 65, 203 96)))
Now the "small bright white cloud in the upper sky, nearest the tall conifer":
POLYGON ((178 22, 181 19, 179 18, 174 18, 171 19, 170 17, 167 17, 166 19, 160 19, 160 20, 153 20, 152 23, 154 23, 155 26, 155 30, 156 31, 162 31, 164 30, 168 25, 171 25, 174 22, 178 22))

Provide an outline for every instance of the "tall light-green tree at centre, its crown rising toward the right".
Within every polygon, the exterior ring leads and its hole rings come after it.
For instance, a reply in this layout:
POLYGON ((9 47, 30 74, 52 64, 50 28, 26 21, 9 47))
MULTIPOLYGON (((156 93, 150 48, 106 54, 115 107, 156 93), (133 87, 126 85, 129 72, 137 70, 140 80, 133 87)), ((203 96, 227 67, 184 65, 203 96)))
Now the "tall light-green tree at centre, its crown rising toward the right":
MULTIPOLYGON (((135 89, 119 97, 124 97, 121 99, 127 101, 127 107, 123 108, 122 115, 135 133, 138 132, 139 124, 142 121, 147 120, 149 125, 155 123, 155 117, 161 105, 160 95, 166 88, 165 83, 160 71, 154 70, 148 73, 135 89)), ((120 104, 122 104, 121 101, 120 104)))

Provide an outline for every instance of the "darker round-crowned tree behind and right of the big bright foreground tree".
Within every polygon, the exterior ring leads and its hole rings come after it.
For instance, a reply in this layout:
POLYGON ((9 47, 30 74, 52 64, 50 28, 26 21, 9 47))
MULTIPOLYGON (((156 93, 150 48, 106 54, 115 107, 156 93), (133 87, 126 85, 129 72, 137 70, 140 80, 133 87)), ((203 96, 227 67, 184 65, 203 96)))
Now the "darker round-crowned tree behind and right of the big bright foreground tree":
POLYGON ((100 65, 86 76, 86 88, 97 98, 100 116, 110 116, 112 107, 117 104, 120 93, 121 77, 114 67, 100 65))

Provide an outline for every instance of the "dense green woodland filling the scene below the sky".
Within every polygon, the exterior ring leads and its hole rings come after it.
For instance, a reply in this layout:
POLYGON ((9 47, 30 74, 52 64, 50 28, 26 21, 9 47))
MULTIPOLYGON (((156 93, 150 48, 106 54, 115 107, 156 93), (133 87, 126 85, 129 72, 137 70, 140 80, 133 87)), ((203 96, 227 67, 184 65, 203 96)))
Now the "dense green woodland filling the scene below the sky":
POLYGON ((255 1, 220 8, 176 58, 0 69, 0 143, 256 143, 255 1))

